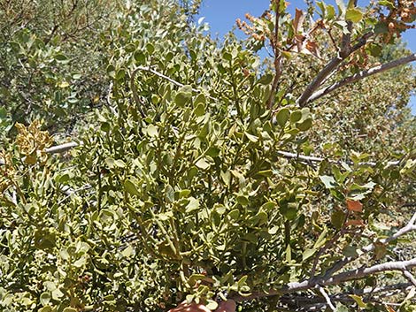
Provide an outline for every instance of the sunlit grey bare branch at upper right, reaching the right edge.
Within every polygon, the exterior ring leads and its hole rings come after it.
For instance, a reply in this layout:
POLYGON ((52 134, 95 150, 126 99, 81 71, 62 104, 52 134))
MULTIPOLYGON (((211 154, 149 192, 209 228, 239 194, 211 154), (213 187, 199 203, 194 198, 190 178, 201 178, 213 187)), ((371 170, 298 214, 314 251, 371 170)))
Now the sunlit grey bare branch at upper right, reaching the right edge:
POLYGON ((347 78, 345 78, 341 81, 335 82, 334 84, 332 84, 332 85, 330 85, 326 88, 321 88, 320 90, 316 91, 315 93, 313 93, 311 95, 308 102, 313 102, 313 101, 319 99, 320 97, 325 96, 325 95, 335 91, 336 89, 341 88, 343 86, 346 86, 346 85, 348 85, 352 82, 365 79, 366 77, 373 76, 376 73, 385 72, 385 71, 388 71, 391 68, 395 68, 395 67, 400 66, 400 65, 405 65, 405 64, 408 64, 408 63, 413 62, 413 61, 416 61, 416 53, 412 54, 410 56, 407 56, 407 57, 399 58, 397 60, 391 61, 391 62, 383 64, 383 65, 375 66, 375 67, 370 68, 366 71, 358 72, 355 75, 347 77, 347 78))

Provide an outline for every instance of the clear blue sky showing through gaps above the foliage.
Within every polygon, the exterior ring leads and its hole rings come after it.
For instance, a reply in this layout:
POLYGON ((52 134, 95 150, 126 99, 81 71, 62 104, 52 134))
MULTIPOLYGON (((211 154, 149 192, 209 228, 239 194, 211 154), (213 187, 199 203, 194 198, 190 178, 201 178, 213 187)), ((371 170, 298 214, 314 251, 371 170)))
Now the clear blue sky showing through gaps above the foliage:
MULTIPOLYGON (((222 37, 235 26, 235 19, 244 19, 244 14, 247 12, 253 16, 259 16, 268 8, 269 3, 270 0, 203 0, 200 16, 205 17, 204 22, 210 25, 212 36, 218 34, 222 37)), ((289 11, 295 11, 296 7, 304 7, 302 0, 289 0, 289 3, 289 11)), ((358 5, 367 3, 367 1, 358 1, 358 5)), ((235 34, 243 37, 243 33, 239 30, 235 34)), ((404 34, 404 41, 407 42, 408 48, 416 53, 416 29, 407 31, 404 34)), ((411 106, 413 114, 416 115, 416 96, 412 97, 411 106)))

